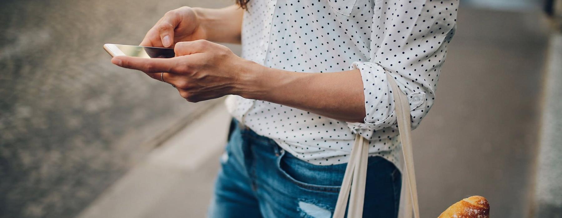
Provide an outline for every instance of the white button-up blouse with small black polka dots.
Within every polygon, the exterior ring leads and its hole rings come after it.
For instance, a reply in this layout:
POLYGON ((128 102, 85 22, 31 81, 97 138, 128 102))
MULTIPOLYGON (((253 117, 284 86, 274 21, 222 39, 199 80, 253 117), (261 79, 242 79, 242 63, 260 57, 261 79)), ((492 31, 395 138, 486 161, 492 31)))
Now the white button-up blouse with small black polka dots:
POLYGON ((350 123, 234 95, 226 99, 229 113, 311 164, 346 163, 355 134, 361 134, 371 156, 401 168, 386 73, 408 96, 416 128, 433 105, 458 6, 458 0, 250 0, 242 57, 294 72, 359 69, 366 117, 364 123, 350 123))

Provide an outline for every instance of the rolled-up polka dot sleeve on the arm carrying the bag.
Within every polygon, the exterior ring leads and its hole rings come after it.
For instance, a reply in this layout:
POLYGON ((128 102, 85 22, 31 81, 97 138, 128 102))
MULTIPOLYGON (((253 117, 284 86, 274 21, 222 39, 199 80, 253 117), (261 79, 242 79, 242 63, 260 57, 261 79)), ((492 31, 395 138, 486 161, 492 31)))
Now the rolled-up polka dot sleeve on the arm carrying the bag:
POLYGON ((348 123, 366 138, 373 131, 396 128, 391 85, 386 73, 407 95, 412 128, 433 105, 441 66, 455 33, 459 1, 376 1, 368 62, 359 69, 365 95, 364 123, 348 123))

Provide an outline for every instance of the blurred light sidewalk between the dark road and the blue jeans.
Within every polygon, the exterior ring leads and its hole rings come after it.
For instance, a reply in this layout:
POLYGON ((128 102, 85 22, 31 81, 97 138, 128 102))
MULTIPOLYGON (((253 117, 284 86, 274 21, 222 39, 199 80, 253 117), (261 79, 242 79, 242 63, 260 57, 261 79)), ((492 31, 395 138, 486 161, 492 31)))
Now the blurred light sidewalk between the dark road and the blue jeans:
POLYGON ((205 217, 229 123, 224 104, 216 105, 152 151, 78 217, 205 217))

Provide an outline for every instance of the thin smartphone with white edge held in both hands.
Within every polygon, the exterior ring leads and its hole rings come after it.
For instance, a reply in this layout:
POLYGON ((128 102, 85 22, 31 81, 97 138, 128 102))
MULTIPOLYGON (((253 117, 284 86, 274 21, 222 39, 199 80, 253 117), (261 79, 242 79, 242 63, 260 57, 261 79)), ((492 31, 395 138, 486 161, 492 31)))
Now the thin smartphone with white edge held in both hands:
POLYGON ((173 48, 146 47, 139 45, 105 44, 103 48, 111 57, 126 55, 141 58, 173 58, 173 48))

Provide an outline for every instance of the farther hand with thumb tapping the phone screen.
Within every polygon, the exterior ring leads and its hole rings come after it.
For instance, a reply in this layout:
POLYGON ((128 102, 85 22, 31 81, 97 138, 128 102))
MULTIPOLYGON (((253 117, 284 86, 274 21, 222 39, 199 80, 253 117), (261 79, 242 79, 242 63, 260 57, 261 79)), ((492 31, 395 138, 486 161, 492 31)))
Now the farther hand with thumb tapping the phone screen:
POLYGON ((149 47, 174 47, 180 41, 207 39, 196 10, 180 7, 168 11, 148 30, 140 45, 149 47))

